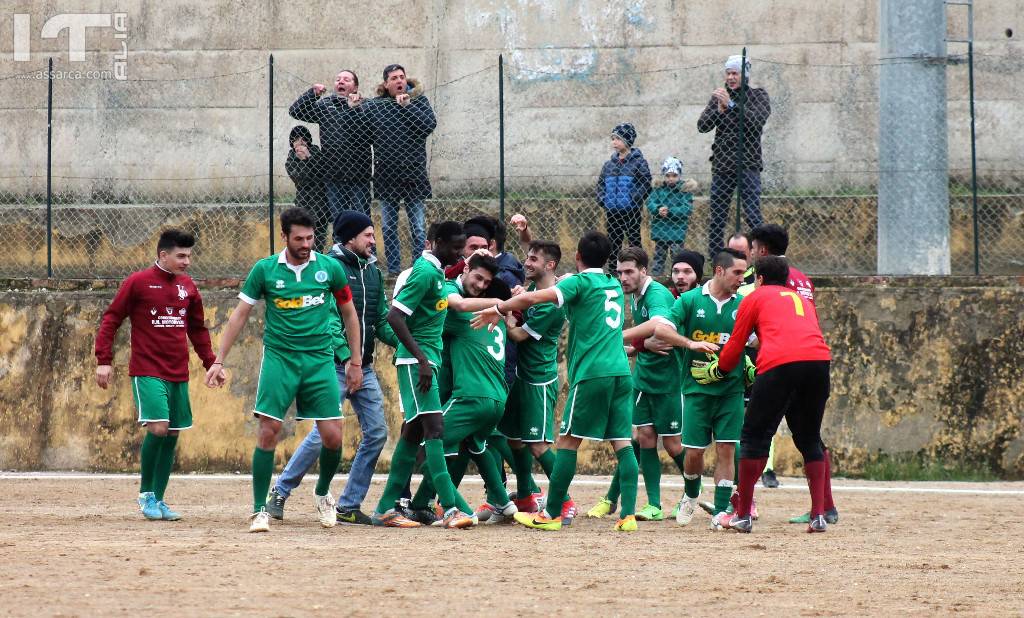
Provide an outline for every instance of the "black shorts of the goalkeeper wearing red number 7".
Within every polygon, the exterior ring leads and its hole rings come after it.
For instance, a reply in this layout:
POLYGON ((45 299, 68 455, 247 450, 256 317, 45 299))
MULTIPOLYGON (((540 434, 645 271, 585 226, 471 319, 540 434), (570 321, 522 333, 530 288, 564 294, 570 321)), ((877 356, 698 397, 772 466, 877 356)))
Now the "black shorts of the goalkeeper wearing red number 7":
POLYGON ((743 421, 741 457, 767 457, 772 436, 785 417, 804 460, 824 458, 821 418, 828 401, 830 365, 827 360, 803 360, 772 367, 758 376, 743 421))

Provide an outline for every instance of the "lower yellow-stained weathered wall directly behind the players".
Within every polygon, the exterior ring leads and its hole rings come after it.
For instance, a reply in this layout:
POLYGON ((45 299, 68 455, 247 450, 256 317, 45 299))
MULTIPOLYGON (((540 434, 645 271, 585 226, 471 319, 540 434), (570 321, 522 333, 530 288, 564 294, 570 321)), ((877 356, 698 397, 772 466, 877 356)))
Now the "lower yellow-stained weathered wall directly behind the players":
MULTIPOLYGON (((208 320, 219 334, 234 306, 224 281, 202 284, 208 320)), ((1024 475, 1024 279, 937 277, 818 280, 818 307, 834 351, 833 396, 824 435, 842 470, 856 472, 878 453, 919 453, 1024 475)), ((111 390, 92 379, 92 344, 114 294, 105 283, 0 281, 0 469, 117 470, 137 466, 142 433, 126 374, 122 328, 111 390)), ((261 323, 250 321, 228 359, 223 390, 190 383, 196 428, 180 443, 179 466, 249 470, 261 323)), ((381 383, 394 430, 399 422, 390 357, 381 349, 381 383)), ((564 368, 563 368, 564 370, 564 368)), ((564 391, 564 387, 563 387, 564 391)), ((564 395, 563 395, 564 396, 564 395)), ((357 425, 346 426, 345 458, 357 425)), ((305 427, 287 426, 279 462, 305 427), (295 435, 294 432, 298 432, 295 435)), ((609 472, 606 447, 586 447, 581 468, 609 472)), ((783 441, 779 468, 799 457, 783 441)))

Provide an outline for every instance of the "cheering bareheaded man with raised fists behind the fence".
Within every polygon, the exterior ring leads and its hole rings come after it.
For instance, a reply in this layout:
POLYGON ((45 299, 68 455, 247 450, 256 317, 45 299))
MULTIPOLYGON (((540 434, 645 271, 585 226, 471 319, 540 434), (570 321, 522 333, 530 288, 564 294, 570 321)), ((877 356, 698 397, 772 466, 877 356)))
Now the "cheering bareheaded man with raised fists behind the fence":
POLYGON ((370 177, 373 136, 367 105, 359 95, 359 78, 342 71, 334 79, 334 94, 313 84, 292 103, 288 114, 295 120, 319 125, 321 145, 331 219, 341 211, 370 216, 370 177))

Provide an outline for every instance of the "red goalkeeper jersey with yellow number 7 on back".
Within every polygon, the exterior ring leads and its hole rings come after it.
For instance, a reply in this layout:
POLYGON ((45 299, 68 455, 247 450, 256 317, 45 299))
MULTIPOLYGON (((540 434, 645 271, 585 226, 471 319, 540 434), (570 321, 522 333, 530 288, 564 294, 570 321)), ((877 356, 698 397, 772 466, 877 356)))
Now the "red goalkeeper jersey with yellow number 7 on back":
POLYGON ((762 285, 739 303, 736 325, 718 358, 722 373, 742 359, 752 332, 761 342, 758 373, 788 362, 831 360, 814 303, 790 288, 762 285))

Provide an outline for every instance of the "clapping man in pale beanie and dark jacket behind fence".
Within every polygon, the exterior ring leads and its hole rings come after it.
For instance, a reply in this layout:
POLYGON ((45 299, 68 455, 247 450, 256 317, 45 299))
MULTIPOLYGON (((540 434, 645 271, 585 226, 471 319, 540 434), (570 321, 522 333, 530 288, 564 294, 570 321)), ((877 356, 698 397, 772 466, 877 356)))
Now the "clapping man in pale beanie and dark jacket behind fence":
MULTIPOLYGON (((708 255, 722 249, 725 224, 729 218, 732 193, 739 187, 743 217, 748 227, 761 225, 761 132, 771 115, 771 100, 763 88, 740 84, 742 56, 729 56, 725 62, 725 87, 717 88, 708 101, 697 131, 714 129, 711 146, 711 209, 708 218, 708 255), (742 154, 740 147, 740 107, 742 107, 742 154)), ((746 75, 751 60, 746 59, 746 75)), ((738 230, 737 230, 738 231, 738 230)))

